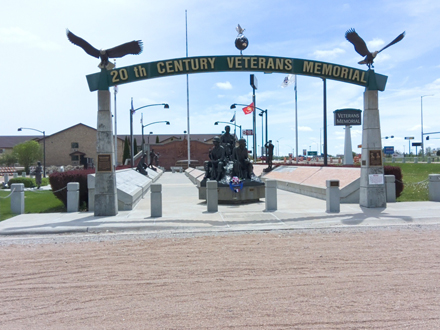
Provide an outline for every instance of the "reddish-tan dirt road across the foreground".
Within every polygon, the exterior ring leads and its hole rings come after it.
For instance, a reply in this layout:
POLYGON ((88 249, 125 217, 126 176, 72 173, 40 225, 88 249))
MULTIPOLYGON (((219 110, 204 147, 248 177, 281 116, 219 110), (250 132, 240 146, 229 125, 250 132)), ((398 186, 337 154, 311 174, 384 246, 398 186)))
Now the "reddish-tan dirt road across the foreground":
POLYGON ((55 243, 0 247, 0 329, 440 328, 438 227, 55 243))

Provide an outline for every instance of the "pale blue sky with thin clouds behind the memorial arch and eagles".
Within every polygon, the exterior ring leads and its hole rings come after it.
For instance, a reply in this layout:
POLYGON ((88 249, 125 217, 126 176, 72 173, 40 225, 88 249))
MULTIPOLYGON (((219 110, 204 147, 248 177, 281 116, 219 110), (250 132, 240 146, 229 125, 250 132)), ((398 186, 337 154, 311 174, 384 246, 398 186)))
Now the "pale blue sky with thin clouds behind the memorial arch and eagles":
MULTIPOLYGON (((269 55, 318 60, 366 69, 362 58, 345 40, 355 28, 370 51, 380 49, 401 32, 405 38, 380 53, 375 71, 388 76, 379 92, 383 145, 408 152, 404 137, 421 139, 421 96, 424 132, 440 131, 440 2, 395 1, 11 1, 0 13, 0 135, 31 127, 53 134, 77 123, 96 127, 97 95, 89 92, 85 76, 98 72, 99 60, 71 44, 70 29, 96 48, 111 48, 142 40, 144 51, 117 60, 129 66, 184 57, 185 10, 188 11, 189 56, 239 55, 234 46, 240 24, 249 39, 244 55, 269 55)), ((269 139, 276 153, 295 148, 293 86, 281 88, 282 74, 256 73, 257 106, 268 109, 269 139), (278 141, 278 142, 277 142, 278 141)), ((249 73, 204 73, 189 76, 191 133, 220 133, 215 121, 229 121, 232 103, 249 104, 249 73)), ((328 151, 342 154, 344 129, 333 126, 333 111, 363 108, 364 88, 328 80, 328 151)), ((170 109, 143 111, 144 124, 168 120, 170 126, 148 128, 157 134, 182 133, 187 129, 186 76, 144 80, 122 85, 117 95, 118 134, 129 134, 129 108, 169 103, 170 109)), ((113 101, 113 96, 112 96, 113 101)), ((299 151, 320 150, 322 144, 322 81, 298 76, 299 151)), ((134 130, 141 133, 141 113, 134 130)), ((257 144, 261 145, 261 117, 257 116, 257 144), (259 141, 259 142, 258 142, 259 141)), ((237 124, 252 128, 252 116, 237 111, 237 124)), ((360 152, 361 127, 352 128, 353 150, 360 152)), ((440 134, 425 141, 439 148, 440 134)), ((415 151, 415 149, 412 149, 415 151)))

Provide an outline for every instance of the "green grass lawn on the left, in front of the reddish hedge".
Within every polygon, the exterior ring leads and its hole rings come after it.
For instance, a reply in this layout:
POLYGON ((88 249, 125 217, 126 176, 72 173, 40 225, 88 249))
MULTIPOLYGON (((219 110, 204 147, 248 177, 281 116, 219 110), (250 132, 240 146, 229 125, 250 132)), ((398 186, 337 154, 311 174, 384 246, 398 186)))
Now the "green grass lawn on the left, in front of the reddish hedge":
MULTIPOLYGON (((11 213, 11 198, 4 198, 10 193, 10 191, 0 191, 0 221, 15 216, 11 213)), ((66 212, 64 204, 52 191, 25 191, 24 198, 25 213, 66 212)))

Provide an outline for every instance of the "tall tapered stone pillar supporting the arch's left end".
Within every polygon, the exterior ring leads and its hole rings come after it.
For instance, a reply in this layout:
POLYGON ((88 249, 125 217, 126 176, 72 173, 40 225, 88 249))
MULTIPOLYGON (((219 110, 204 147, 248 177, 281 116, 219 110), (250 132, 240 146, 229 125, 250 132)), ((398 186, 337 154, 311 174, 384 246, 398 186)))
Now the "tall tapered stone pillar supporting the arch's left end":
POLYGON ((113 216, 118 214, 118 195, 113 165, 114 139, 108 90, 98 91, 96 151, 98 159, 96 161, 94 214, 95 216, 113 216))

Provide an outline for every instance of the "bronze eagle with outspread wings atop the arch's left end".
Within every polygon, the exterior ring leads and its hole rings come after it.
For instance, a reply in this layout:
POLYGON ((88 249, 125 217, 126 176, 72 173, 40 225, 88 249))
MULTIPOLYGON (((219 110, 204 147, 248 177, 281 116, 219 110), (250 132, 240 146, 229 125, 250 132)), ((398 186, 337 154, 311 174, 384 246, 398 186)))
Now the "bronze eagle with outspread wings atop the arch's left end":
POLYGON ((142 53, 143 44, 141 40, 133 40, 110 49, 98 50, 69 30, 66 30, 66 34, 71 43, 84 49, 87 54, 96 58, 101 58, 101 63, 98 65, 101 69, 106 68, 107 70, 111 70, 115 67, 113 63, 108 61, 109 58, 123 57, 128 54, 138 55, 142 53))

